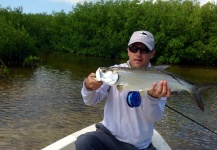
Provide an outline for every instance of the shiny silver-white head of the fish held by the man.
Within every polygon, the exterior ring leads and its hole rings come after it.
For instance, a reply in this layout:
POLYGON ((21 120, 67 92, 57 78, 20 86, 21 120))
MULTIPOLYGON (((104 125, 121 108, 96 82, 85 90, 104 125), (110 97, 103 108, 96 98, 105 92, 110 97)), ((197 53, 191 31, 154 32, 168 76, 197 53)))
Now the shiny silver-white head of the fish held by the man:
POLYGON ((118 81, 118 69, 112 67, 99 67, 96 71, 96 80, 114 85, 118 81))

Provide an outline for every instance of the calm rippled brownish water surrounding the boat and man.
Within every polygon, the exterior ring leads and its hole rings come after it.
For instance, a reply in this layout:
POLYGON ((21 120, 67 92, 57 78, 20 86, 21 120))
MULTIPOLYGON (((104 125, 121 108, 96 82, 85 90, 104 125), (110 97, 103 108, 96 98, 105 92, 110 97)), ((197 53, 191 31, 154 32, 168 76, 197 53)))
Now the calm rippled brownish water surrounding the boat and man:
MULTIPOLYGON (((16 79, 0 81, 0 149, 38 150, 103 118, 104 102, 83 104, 83 79, 99 66, 125 60, 52 56, 36 69, 13 69, 16 79)), ((196 83, 217 83, 217 67, 170 66, 167 71, 196 83)), ((217 147, 217 88, 202 94, 205 111, 198 109, 187 92, 171 96, 164 119, 156 124, 172 149, 213 150, 217 147), (197 123, 183 117, 184 114, 197 123)))

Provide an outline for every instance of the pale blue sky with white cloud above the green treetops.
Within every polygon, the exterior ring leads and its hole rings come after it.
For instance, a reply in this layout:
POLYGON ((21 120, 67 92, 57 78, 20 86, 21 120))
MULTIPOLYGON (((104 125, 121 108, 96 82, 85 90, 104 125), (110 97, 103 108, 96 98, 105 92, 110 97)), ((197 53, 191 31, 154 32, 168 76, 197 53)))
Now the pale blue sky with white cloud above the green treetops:
MULTIPOLYGON (((18 8, 23 7, 23 13, 47 13, 51 14, 52 11, 60 12, 64 11, 68 13, 72 11, 72 7, 76 6, 78 2, 83 4, 84 1, 90 2, 91 0, 0 0, 0 6, 6 8, 18 8)), ((99 0, 92 0, 96 2, 99 0)), ((205 4, 209 0, 198 0, 201 5, 205 4)), ((215 2, 217 0, 214 0, 215 2)))

